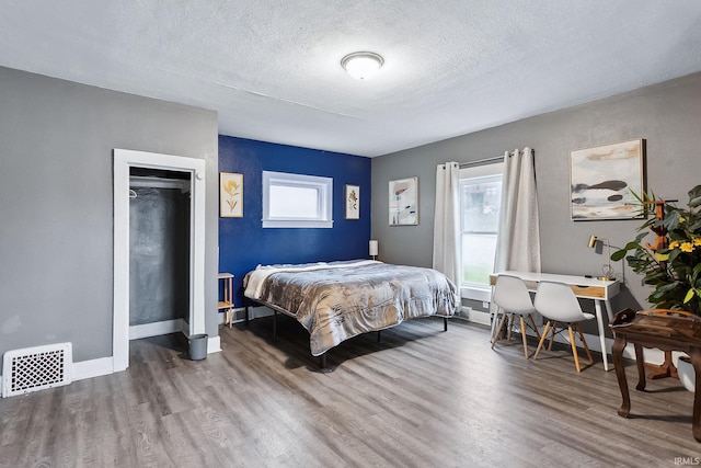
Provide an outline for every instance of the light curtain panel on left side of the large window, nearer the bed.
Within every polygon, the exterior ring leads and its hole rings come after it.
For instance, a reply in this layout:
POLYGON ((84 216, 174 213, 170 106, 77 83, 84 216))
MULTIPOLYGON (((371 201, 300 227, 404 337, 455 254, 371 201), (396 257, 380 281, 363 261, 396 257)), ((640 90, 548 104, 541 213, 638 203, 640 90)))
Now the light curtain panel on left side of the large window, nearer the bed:
POLYGON ((460 164, 446 162, 436 169, 434 270, 460 284, 460 164))

